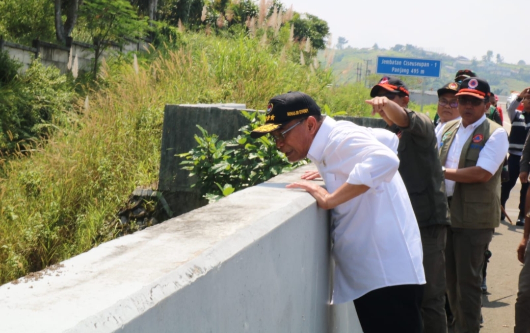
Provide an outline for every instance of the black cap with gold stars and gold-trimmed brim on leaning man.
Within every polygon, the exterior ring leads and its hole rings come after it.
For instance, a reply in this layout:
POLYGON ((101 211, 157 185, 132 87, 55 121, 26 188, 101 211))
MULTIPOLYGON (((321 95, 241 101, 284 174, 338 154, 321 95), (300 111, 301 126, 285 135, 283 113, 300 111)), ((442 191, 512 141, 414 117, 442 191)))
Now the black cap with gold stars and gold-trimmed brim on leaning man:
POLYGON ((255 128, 250 133, 258 138, 287 124, 293 119, 320 116, 320 107, 313 98, 300 91, 289 91, 287 94, 272 97, 267 106, 265 125, 255 128))

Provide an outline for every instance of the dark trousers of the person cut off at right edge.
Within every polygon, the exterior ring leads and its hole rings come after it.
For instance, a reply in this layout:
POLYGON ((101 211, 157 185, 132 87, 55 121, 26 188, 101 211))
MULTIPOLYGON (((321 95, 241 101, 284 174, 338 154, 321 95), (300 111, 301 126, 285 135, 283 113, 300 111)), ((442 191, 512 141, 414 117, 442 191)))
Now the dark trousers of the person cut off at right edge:
POLYGON ((525 264, 519 274, 514 332, 530 333, 530 243, 526 245, 525 264))

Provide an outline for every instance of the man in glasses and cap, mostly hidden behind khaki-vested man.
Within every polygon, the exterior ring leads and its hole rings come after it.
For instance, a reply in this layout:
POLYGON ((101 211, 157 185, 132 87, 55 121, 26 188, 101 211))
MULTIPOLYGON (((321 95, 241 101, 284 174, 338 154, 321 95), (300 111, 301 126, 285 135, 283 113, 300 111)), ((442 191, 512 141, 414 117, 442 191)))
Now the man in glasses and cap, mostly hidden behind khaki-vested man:
POLYGON ((460 84, 456 82, 449 82, 445 86, 438 89, 437 114, 440 121, 434 129, 438 145, 440 145, 441 132, 443 131, 445 124, 452 120, 460 119, 460 113, 458 113, 458 99, 455 96, 459 88, 460 84))

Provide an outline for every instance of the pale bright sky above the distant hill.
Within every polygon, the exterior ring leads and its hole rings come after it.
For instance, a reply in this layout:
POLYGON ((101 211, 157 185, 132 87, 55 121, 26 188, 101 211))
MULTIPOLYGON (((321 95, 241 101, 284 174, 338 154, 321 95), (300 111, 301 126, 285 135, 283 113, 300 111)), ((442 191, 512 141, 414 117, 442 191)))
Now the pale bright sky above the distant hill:
POLYGON ((530 64, 528 1, 482 0, 281 0, 298 13, 322 18, 333 45, 339 36, 352 48, 412 44, 427 51, 481 59, 488 50, 508 63, 530 64))

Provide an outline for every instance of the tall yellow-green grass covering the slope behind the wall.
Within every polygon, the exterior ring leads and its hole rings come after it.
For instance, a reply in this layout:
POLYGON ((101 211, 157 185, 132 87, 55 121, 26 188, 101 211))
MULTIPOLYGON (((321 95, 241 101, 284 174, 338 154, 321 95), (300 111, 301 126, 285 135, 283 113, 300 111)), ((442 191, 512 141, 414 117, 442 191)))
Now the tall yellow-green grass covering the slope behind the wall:
POLYGON ((270 97, 301 90, 320 104, 356 107, 345 101, 349 91, 341 101, 330 97, 329 71, 294 60, 298 44, 263 40, 187 33, 181 47, 149 49, 137 70, 132 56, 104 63, 89 103, 83 96, 74 105, 72 126, 3 167, 0 282, 116 237, 117 212, 131 191, 156 186, 165 104, 263 109, 270 97))

